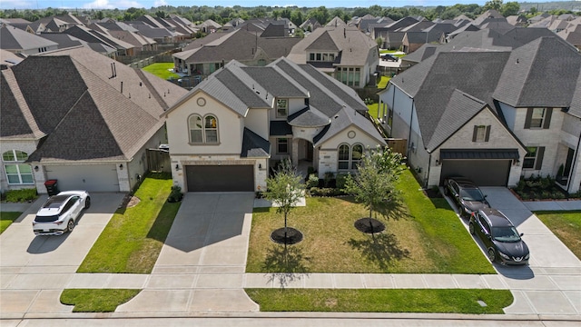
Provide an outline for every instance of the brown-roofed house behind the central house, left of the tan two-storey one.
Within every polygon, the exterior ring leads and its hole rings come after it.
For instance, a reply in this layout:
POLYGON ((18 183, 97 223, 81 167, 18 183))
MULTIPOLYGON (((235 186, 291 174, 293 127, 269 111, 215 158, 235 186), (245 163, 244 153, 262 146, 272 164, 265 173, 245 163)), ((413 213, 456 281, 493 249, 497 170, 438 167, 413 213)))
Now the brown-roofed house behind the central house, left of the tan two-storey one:
POLYGON ((259 37, 242 27, 230 33, 207 35, 172 56, 180 72, 205 78, 231 60, 248 65, 270 64, 289 54, 299 41, 300 38, 286 36, 259 37))

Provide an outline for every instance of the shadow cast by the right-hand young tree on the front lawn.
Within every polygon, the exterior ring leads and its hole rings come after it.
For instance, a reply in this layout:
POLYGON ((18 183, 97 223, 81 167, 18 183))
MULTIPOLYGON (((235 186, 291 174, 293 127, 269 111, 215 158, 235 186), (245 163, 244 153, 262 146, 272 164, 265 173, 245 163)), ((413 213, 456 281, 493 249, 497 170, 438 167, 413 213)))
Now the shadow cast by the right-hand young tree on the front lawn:
POLYGON ((350 239, 350 246, 359 251, 371 263, 378 263, 379 268, 388 269, 389 263, 409 258, 409 250, 399 246, 398 238, 393 233, 372 234, 364 240, 350 239))

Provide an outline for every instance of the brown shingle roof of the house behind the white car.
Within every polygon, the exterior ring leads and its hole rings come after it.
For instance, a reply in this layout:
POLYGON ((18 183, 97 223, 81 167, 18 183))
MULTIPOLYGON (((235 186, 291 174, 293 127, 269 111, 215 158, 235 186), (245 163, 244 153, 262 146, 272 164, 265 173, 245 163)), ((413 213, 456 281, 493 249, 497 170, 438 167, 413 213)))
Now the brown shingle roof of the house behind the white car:
POLYGON ((84 48, 29 56, 2 74, 2 137, 46 135, 30 162, 132 160, 187 92, 84 48), (22 114, 7 122, 6 112, 22 114))

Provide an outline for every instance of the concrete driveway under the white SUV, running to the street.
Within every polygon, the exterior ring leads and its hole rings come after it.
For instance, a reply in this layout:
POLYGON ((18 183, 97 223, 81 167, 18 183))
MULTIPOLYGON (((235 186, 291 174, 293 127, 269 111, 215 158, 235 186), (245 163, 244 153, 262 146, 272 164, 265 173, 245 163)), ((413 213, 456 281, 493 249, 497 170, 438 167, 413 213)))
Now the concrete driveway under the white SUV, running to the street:
POLYGON ((92 193, 91 207, 77 220, 73 233, 35 236, 34 214, 41 196, 0 235, 1 317, 25 312, 71 312, 58 297, 74 278, 96 239, 123 200, 123 193, 92 193))

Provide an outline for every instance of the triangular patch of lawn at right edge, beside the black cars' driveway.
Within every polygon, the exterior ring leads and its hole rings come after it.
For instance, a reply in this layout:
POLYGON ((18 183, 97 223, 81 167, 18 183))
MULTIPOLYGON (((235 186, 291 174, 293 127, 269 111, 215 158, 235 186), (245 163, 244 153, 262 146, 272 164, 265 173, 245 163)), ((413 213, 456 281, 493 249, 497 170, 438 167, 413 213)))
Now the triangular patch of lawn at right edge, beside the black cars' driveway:
POLYGON ((581 211, 573 212, 536 212, 541 222, 545 223, 566 247, 581 259, 581 211))

